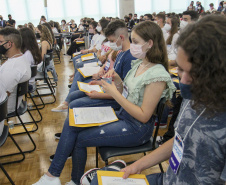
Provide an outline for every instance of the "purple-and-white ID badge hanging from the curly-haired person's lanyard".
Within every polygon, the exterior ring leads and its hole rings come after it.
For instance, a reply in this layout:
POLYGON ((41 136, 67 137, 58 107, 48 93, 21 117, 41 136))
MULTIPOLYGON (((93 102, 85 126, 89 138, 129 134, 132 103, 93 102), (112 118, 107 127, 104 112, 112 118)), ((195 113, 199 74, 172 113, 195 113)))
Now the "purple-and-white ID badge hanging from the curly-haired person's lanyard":
POLYGON ((184 142, 181 139, 180 135, 176 132, 173 143, 173 151, 169 160, 170 167, 172 168, 175 174, 177 174, 177 171, 179 169, 183 157, 183 152, 184 152, 184 142))

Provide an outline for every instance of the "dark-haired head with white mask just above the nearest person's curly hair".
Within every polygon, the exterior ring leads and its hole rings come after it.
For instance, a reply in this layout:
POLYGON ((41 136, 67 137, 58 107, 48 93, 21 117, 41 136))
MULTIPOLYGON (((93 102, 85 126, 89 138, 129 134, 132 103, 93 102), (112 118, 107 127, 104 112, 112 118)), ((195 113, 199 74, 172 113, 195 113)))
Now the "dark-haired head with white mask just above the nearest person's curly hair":
POLYGON ((183 12, 183 20, 180 22, 180 32, 184 30, 184 28, 198 20, 198 13, 196 11, 184 11, 183 12))

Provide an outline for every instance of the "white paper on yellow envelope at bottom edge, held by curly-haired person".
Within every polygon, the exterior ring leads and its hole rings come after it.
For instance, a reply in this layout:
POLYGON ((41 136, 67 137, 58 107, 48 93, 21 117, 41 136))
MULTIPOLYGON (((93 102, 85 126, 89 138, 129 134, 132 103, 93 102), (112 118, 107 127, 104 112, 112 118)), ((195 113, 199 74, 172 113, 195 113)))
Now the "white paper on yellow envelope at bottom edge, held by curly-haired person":
POLYGON ((145 179, 134 179, 127 178, 123 179, 122 177, 108 177, 102 176, 103 185, 147 185, 145 179))

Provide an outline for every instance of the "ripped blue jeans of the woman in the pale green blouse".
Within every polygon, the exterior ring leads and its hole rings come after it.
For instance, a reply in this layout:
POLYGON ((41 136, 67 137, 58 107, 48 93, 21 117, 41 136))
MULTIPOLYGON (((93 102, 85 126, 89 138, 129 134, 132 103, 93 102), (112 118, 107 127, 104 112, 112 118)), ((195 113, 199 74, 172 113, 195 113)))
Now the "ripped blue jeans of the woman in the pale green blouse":
POLYGON ((59 177, 67 157, 72 153, 71 179, 74 183, 79 184, 87 160, 86 147, 133 147, 147 142, 152 136, 154 117, 148 123, 143 124, 122 108, 116 115, 119 121, 87 128, 69 126, 67 117, 49 172, 53 176, 59 177))

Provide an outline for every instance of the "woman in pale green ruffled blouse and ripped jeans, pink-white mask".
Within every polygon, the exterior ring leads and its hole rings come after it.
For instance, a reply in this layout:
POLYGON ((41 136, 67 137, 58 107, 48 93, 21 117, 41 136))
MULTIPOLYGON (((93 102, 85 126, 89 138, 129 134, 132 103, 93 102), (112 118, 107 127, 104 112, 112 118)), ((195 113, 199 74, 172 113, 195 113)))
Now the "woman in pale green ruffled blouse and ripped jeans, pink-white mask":
MULTIPOLYGON (((115 35, 108 36, 112 33, 110 24, 109 30, 106 29, 108 40, 113 40, 120 32, 127 31, 124 24, 123 31, 119 28, 115 35)), ((124 34, 119 34, 119 37, 120 40, 125 39, 124 34)), ((101 127, 81 129, 70 127, 67 118, 51 166, 47 174, 34 185, 60 185, 61 170, 72 150, 73 171, 70 184, 83 184, 80 183, 80 179, 86 164, 86 147, 130 147, 141 145, 150 139, 154 129, 155 116, 153 113, 159 99, 166 97, 169 100, 175 87, 167 72, 168 60, 165 41, 159 26, 150 21, 138 24, 132 32, 132 40, 131 53, 139 59, 132 62, 133 67, 124 79, 124 84, 128 87, 128 94, 123 93, 122 95, 122 79, 116 72, 113 73, 115 83, 108 84, 102 81, 105 92, 122 106, 116 113, 119 120, 101 127), (145 34, 143 34, 143 30, 146 30, 145 34), (152 30, 152 32, 148 30, 152 30), (102 134, 103 132, 104 134, 102 134)))

